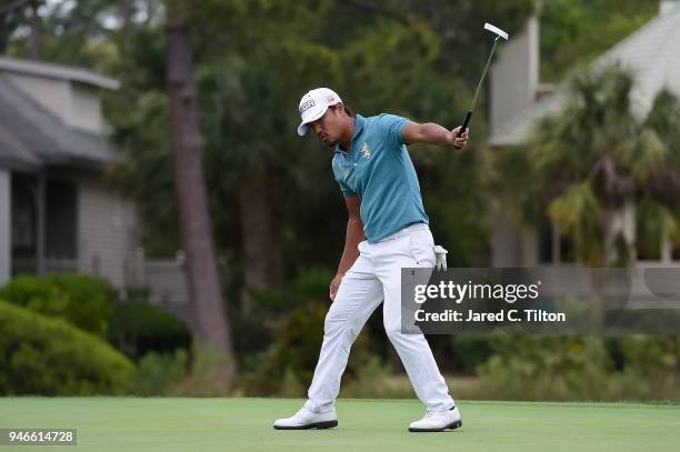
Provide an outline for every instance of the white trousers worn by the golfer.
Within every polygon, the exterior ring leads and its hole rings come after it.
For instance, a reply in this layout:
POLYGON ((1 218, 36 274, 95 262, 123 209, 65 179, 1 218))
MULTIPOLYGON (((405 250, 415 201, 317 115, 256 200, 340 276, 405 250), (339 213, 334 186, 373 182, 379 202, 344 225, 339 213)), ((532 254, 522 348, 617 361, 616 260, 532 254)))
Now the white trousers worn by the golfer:
POLYGON ((401 268, 434 267, 434 241, 427 224, 414 224, 374 244, 359 243, 359 258, 342 278, 323 325, 323 344, 304 404, 330 410, 350 348, 371 313, 384 300, 384 330, 406 368, 418 399, 428 410, 453 408, 454 401, 422 334, 401 332, 401 268))

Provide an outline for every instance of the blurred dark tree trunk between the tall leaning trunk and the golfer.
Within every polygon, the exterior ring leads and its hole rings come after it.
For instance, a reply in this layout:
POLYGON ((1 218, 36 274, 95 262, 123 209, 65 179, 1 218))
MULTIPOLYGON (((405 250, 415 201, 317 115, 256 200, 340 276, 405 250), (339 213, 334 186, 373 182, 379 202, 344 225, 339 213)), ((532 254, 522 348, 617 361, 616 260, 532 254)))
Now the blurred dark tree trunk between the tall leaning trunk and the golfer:
POLYGON ((243 279, 241 294, 243 315, 252 311, 251 291, 277 285, 282 279, 282 252, 279 221, 273 197, 271 169, 246 174, 239 185, 243 243, 243 279))

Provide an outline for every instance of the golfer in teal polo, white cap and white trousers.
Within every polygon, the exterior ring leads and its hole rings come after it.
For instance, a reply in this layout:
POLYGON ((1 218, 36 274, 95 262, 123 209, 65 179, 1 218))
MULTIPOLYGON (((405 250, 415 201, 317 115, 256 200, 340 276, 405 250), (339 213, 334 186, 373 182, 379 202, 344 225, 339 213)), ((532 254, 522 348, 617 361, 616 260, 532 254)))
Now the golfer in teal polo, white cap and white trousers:
POLYGON ((330 284, 333 300, 323 325, 323 344, 308 400, 274 429, 328 429, 338 425, 333 406, 350 346, 371 313, 384 300, 388 338, 399 353, 426 415, 410 431, 443 431, 461 425, 456 402, 422 334, 401 332, 401 268, 436 263, 416 169, 407 144, 462 148, 468 132, 457 138, 433 123, 419 124, 393 114, 353 114, 328 88, 309 91, 300 101, 298 134, 311 129, 334 151, 333 173, 349 212, 344 250, 330 284))

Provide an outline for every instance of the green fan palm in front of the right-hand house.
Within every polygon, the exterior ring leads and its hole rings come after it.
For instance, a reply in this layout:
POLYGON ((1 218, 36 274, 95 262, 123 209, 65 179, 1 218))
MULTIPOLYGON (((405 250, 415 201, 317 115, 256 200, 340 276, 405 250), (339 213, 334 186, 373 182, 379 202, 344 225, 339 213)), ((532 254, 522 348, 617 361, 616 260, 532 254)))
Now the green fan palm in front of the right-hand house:
POLYGON ((550 218, 592 265, 634 261, 637 239, 656 240, 657 250, 677 239, 679 202, 668 193, 680 181, 679 102, 662 91, 641 121, 633 83, 616 66, 576 77, 564 109, 540 121, 528 144, 550 218))

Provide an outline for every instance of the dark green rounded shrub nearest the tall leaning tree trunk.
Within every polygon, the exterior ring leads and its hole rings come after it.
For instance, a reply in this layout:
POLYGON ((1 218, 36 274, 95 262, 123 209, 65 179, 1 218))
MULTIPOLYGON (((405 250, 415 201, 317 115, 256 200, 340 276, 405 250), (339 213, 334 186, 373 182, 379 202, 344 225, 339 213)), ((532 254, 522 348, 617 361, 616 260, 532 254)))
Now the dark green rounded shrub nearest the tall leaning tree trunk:
POLYGON ((109 340, 134 360, 149 352, 162 354, 191 348, 191 332, 184 322, 142 301, 116 303, 109 340))

